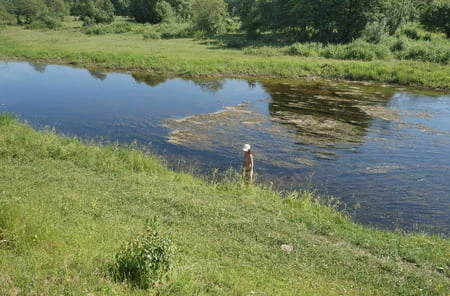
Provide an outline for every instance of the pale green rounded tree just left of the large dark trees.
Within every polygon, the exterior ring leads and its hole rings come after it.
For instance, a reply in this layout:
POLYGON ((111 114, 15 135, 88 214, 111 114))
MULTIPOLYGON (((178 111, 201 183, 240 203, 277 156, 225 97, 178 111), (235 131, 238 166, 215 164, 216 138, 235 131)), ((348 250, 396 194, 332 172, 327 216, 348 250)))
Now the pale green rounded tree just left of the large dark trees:
POLYGON ((196 0, 192 7, 195 30, 206 36, 226 31, 227 4, 223 0, 196 0))

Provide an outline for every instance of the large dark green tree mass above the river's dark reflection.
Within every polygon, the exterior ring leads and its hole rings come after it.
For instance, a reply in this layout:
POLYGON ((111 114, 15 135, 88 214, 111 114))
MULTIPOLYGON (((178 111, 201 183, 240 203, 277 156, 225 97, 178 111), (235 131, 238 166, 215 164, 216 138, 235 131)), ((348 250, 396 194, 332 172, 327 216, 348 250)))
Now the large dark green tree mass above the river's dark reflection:
POLYGON ((358 38, 375 7, 372 0, 246 1, 247 30, 271 30, 295 41, 350 42, 358 38))

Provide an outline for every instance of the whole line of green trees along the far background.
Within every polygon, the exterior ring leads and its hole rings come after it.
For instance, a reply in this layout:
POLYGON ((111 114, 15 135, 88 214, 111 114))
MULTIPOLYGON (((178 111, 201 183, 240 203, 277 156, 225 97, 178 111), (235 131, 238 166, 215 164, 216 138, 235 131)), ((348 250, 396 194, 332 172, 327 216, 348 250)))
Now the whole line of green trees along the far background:
POLYGON ((189 23, 214 36, 243 30, 292 42, 378 42, 408 22, 450 38, 450 0, 0 0, 0 24, 55 28, 67 16, 88 26, 126 16, 189 23))

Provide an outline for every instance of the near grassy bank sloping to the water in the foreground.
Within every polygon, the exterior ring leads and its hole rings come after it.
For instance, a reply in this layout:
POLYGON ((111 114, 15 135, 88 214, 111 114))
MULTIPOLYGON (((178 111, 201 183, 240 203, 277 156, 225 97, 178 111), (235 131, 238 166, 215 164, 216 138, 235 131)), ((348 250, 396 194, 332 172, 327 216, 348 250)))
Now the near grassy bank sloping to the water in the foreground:
POLYGON ((0 295, 450 292, 448 239, 367 229, 317 200, 204 182, 1 115, 0 295), (148 218, 171 239, 173 268, 143 290, 111 267, 148 218))

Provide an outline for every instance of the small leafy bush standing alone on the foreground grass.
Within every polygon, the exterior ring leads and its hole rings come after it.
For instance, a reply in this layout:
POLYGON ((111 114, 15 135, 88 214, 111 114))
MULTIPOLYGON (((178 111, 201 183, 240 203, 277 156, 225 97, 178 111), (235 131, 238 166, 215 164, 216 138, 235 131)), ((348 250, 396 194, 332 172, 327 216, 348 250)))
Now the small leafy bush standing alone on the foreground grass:
POLYGON ((172 241, 160 237, 155 219, 147 220, 145 233, 125 243, 115 256, 113 274, 117 281, 147 289, 159 283, 171 269, 172 241))

